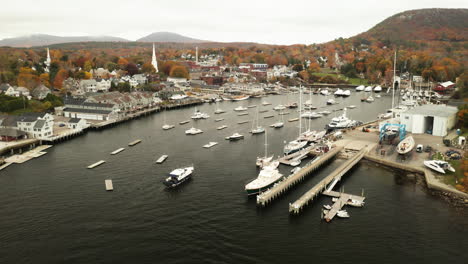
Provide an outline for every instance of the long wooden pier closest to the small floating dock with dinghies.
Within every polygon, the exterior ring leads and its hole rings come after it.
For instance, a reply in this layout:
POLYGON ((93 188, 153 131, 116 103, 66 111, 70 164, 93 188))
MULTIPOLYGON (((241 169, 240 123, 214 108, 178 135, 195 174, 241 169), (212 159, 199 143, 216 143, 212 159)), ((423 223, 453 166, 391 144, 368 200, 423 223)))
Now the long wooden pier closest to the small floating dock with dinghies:
POLYGON ((297 199, 294 203, 289 204, 289 212, 290 213, 295 213, 298 214, 301 209, 309 203, 309 201, 312 201, 314 197, 318 196, 320 193, 325 191, 327 189, 327 186, 332 183, 331 186, 328 187, 328 191, 331 191, 333 189, 334 185, 341 180, 341 177, 348 172, 356 163, 358 163, 364 155, 367 153, 367 148, 362 148, 356 155, 351 157, 349 160, 347 160, 345 163, 343 163, 340 167, 338 167, 336 170, 334 170, 330 175, 325 177, 323 180, 321 180, 319 183, 317 183, 312 189, 310 189, 308 192, 303 194, 299 199, 297 199))

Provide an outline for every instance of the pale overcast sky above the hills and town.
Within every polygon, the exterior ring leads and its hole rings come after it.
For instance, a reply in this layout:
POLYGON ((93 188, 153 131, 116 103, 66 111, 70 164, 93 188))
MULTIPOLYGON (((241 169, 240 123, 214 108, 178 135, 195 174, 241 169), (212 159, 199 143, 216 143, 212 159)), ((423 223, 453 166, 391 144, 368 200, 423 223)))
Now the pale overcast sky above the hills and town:
POLYGON ((351 37, 398 12, 466 0, 22 0, 0 3, 0 39, 35 33, 136 40, 170 31, 212 41, 311 44, 351 37))

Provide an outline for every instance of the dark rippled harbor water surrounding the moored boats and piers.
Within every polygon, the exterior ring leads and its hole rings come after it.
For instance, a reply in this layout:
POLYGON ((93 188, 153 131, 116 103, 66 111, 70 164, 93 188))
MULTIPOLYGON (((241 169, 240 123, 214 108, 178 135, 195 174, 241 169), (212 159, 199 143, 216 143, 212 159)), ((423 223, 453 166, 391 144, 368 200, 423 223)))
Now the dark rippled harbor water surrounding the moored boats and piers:
MULTIPOLYGON (((390 108, 382 94, 373 103, 361 102, 364 93, 336 99, 312 95, 314 111, 348 105, 352 119, 370 121, 390 108)), ((58 144, 47 154, 0 172, 0 263, 452 263, 468 253, 468 212, 431 196, 423 187, 401 181, 399 175, 369 163, 353 168, 336 188, 361 194, 366 205, 349 208, 349 219, 321 221, 319 197, 298 216, 288 204, 339 166, 335 160, 265 208, 245 195, 244 185, 258 174, 255 159, 264 153, 264 134, 250 135, 259 110, 259 123, 280 119, 272 108, 298 101, 298 95, 269 96, 221 102, 225 114, 215 115, 215 104, 198 109, 211 117, 190 119, 194 107, 167 111, 175 128, 164 131, 163 115, 153 114, 116 127, 90 131, 58 144), (272 105, 262 106, 263 100, 272 105), (233 109, 248 108, 238 116, 233 109), (263 116, 274 115, 264 119, 263 116), (225 118, 215 122, 216 118, 225 118), (250 122, 239 125, 237 122, 250 122), (224 130, 216 127, 227 125, 224 130), (186 136, 192 126, 204 133, 186 136), (224 137, 239 132, 243 140, 224 137), (141 139, 134 147, 129 142, 141 139), (205 149, 210 141, 218 145, 205 149), (120 147, 125 151, 110 153, 120 147), (169 155, 163 164, 155 161, 169 155), (99 160, 106 163, 86 167, 99 160), (162 181, 181 166, 194 165, 193 179, 167 190, 162 181), (111 179, 114 191, 105 190, 111 179)), ((308 100, 304 95, 304 101, 308 100)), ((268 127, 268 151, 282 153, 284 141, 298 134, 296 109, 286 109, 285 126, 268 127)), ((333 112, 311 120, 323 129, 333 112)), ((308 125, 304 120, 303 127, 308 125)), ((283 174, 291 167, 280 166, 283 174)))

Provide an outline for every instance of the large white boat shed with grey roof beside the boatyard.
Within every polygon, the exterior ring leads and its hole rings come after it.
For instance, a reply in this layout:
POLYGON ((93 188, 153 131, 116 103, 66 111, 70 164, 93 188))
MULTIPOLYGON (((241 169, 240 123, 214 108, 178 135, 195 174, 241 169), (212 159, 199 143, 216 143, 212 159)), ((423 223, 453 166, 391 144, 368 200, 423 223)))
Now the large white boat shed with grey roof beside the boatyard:
POLYGON ((422 105, 401 113, 400 123, 413 134, 446 136, 455 126, 458 109, 447 105, 422 105))

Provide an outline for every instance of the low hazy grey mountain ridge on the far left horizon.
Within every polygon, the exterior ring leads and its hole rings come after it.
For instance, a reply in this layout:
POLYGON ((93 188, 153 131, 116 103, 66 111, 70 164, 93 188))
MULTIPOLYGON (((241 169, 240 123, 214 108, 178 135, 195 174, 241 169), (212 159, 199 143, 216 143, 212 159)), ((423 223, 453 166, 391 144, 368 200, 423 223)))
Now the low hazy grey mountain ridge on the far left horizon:
POLYGON ((33 47, 33 46, 47 46, 58 43, 70 42, 128 42, 124 38, 112 36, 77 36, 77 37, 60 37, 46 34, 33 34, 28 36, 21 36, 16 38, 6 38, 0 40, 1 46, 10 47, 33 47))

